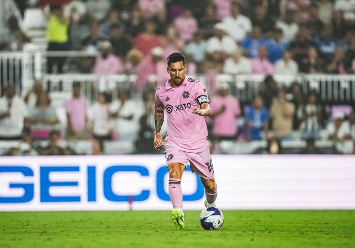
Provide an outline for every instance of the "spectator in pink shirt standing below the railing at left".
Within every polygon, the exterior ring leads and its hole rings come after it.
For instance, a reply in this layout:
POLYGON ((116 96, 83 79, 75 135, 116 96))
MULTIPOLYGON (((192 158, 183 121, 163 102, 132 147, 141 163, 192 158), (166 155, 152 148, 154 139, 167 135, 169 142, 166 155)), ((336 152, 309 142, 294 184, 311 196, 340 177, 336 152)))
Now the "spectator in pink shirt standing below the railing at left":
POLYGON ((80 82, 73 83, 73 97, 64 103, 67 113, 67 138, 87 139, 88 101, 81 96, 80 82))

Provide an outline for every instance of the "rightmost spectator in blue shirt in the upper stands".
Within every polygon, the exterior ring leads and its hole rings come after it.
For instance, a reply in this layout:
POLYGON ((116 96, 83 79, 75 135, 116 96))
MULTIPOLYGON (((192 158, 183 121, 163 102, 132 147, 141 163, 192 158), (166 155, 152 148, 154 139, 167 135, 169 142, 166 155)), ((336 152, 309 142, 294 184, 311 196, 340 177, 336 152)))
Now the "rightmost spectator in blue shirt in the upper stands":
POLYGON ((325 27, 322 35, 316 36, 315 43, 321 58, 327 62, 331 61, 338 46, 338 40, 333 35, 332 27, 325 27))

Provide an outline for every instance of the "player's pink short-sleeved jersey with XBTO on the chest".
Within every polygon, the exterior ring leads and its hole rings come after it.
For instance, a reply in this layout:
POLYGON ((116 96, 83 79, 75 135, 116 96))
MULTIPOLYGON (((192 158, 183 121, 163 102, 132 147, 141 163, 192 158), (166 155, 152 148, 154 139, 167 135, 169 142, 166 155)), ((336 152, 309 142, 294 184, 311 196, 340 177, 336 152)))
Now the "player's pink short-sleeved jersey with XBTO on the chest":
POLYGON ((178 88, 169 80, 155 92, 155 110, 166 110, 168 133, 165 145, 181 151, 199 153, 208 147, 207 125, 203 116, 192 109, 209 103, 206 88, 200 81, 185 77, 178 88))

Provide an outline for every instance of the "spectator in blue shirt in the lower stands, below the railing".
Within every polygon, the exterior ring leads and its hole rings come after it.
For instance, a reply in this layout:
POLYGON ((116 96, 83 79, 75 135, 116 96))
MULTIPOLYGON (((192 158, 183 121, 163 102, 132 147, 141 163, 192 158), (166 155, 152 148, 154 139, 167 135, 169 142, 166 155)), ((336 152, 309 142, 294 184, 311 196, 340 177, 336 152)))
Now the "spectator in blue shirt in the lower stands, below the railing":
POLYGON ((264 107, 263 99, 255 97, 253 106, 245 107, 246 116, 246 140, 261 140, 261 131, 267 137, 269 129, 269 111, 264 107))

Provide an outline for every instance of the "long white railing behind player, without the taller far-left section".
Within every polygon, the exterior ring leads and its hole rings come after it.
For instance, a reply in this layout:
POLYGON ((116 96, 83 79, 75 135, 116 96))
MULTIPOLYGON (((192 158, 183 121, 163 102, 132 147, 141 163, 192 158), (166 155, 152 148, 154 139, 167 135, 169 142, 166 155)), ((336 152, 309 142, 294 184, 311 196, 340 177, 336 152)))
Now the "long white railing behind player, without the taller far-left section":
MULTIPOLYGON (((322 75, 300 74, 296 77, 289 75, 273 75, 280 86, 289 87, 293 82, 301 85, 302 92, 307 95, 315 92, 322 103, 351 104, 355 103, 355 75, 322 75)), ((194 78, 205 82, 203 75, 194 75, 194 78)), ((151 75, 149 84, 155 84, 156 77, 151 75)), ((242 103, 251 102, 255 94, 260 93, 263 75, 227 75, 219 74, 216 82, 227 82, 230 92, 242 103)), ((89 92, 88 98, 92 98, 93 92, 115 91, 118 88, 134 88, 136 75, 95 75, 95 74, 47 74, 43 82, 49 91, 70 91, 74 81, 83 84, 85 92, 89 92), (59 85, 61 85, 59 87, 59 85)), ((207 85, 211 88, 211 85, 207 85)))

